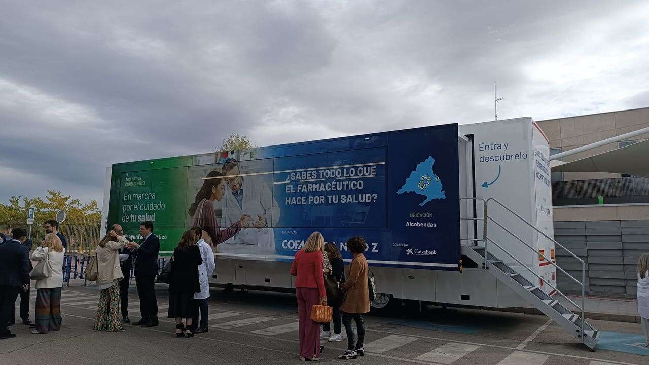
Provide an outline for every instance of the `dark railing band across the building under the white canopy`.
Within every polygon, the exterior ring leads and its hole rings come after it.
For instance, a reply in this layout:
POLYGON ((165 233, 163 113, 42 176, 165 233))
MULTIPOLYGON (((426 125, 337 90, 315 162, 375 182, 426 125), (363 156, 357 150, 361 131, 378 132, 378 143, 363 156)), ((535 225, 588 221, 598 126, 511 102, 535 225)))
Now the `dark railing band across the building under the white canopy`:
POLYGON ((594 199, 596 204, 598 197, 604 198, 607 203, 649 202, 649 179, 621 177, 552 182, 552 200, 555 202, 570 203, 570 201, 594 199))

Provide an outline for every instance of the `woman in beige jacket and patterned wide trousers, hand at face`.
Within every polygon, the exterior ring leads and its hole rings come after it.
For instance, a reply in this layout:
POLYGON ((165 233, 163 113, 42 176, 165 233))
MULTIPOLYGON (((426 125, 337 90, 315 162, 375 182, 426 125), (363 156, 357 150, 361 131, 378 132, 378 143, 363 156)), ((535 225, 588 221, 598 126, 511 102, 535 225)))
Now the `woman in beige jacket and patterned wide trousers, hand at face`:
POLYGON ((119 281, 124 278, 119 268, 119 249, 127 244, 129 240, 125 237, 109 231, 97 246, 97 288, 101 292, 95 319, 96 331, 124 331, 119 324, 119 281))

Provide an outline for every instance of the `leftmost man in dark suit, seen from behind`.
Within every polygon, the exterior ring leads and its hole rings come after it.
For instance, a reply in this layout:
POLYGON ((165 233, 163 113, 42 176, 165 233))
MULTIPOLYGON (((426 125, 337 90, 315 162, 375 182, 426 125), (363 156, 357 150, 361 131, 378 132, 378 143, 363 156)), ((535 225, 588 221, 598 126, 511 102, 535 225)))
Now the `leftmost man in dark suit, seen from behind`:
POLYGON ((29 286, 29 251, 23 243, 27 238, 24 228, 12 229, 11 241, 0 245, 0 339, 14 338, 6 327, 12 310, 15 310, 16 297, 29 286))

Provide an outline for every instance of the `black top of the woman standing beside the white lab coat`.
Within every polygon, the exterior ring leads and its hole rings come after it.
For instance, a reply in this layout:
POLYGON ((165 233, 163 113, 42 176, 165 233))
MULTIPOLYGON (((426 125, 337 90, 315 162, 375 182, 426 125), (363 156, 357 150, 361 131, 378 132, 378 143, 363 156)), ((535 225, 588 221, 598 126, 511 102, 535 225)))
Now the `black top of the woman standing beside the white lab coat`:
POLYGON ((201 263, 201 250, 199 250, 198 246, 191 246, 187 251, 182 251, 176 247, 173 250, 169 292, 200 292, 199 265, 201 263))

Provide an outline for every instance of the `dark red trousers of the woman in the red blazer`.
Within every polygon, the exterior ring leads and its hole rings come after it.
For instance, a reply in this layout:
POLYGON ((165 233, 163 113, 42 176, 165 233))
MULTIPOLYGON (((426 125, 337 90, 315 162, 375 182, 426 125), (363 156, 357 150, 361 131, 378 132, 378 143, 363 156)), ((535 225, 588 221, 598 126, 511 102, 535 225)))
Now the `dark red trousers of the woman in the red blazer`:
POLYGON ((320 357, 320 323, 311 320, 311 307, 320 303, 316 288, 296 288, 297 318, 300 333, 300 356, 320 357))

